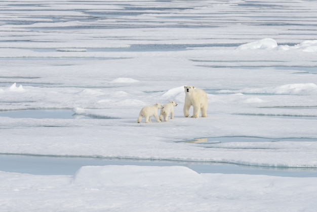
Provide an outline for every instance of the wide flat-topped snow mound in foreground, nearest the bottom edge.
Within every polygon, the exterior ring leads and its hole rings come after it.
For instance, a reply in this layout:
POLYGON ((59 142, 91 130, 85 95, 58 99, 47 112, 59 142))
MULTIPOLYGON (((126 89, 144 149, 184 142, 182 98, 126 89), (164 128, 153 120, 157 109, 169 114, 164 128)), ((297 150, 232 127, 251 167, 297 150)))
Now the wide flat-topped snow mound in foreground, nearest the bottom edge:
POLYGON ((73 184, 91 187, 179 185, 205 181, 199 173, 184 166, 83 166, 73 176, 73 184))

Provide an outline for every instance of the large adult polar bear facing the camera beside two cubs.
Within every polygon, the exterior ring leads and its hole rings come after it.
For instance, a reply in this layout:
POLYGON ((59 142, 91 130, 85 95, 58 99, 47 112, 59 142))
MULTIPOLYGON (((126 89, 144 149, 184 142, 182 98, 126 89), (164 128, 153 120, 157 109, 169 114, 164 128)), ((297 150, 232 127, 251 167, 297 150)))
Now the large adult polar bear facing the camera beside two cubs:
POLYGON ((192 118, 198 118, 200 113, 202 117, 207 117, 208 98, 204 90, 194 86, 184 86, 185 90, 185 103, 184 103, 184 116, 189 116, 189 108, 192 105, 193 115, 192 118))

